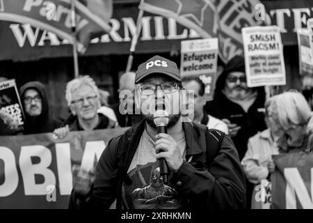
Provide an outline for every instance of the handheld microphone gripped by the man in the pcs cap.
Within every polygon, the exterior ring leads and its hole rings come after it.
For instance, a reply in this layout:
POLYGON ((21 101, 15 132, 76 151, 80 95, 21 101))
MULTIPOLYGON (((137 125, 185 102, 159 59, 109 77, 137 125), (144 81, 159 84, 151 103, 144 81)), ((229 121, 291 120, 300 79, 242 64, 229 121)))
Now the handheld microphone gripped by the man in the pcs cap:
MULTIPOLYGON (((168 133, 168 112, 164 110, 157 110, 154 113, 153 120, 154 124, 157 126, 157 133, 168 133)), ((159 159, 160 165, 160 175, 163 178, 163 183, 168 184, 168 175, 170 175, 170 169, 168 168, 168 163, 164 158, 159 159)))

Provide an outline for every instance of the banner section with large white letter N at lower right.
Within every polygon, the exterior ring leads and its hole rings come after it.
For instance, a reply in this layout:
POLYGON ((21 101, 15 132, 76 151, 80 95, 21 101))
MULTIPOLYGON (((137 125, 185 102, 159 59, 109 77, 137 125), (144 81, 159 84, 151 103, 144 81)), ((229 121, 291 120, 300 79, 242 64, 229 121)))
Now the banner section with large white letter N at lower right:
POLYGON ((273 155, 273 209, 313 209, 313 153, 273 155))

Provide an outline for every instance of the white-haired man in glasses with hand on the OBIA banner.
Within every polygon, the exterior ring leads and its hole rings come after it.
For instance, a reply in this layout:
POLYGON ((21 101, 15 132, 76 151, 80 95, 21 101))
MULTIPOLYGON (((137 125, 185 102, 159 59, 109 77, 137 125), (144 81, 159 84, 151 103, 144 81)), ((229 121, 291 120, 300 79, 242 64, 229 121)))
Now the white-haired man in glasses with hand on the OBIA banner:
POLYGON ((88 75, 67 83, 65 99, 74 117, 69 125, 54 130, 57 137, 63 138, 69 131, 99 130, 115 125, 107 116, 97 113, 100 107, 99 90, 88 75))

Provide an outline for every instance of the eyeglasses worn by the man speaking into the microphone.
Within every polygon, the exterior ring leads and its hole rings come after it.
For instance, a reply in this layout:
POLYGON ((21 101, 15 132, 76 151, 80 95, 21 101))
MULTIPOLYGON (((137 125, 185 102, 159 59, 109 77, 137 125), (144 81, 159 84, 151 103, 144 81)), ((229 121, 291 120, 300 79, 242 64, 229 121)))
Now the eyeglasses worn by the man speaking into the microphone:
POLYGON ((165 82, 162 84, 141 84, 139 91, 141 95, 152 95, 157 91, 157 86, 161 87, 163 93, 174 93, 178 89, 177 82, 165 82))

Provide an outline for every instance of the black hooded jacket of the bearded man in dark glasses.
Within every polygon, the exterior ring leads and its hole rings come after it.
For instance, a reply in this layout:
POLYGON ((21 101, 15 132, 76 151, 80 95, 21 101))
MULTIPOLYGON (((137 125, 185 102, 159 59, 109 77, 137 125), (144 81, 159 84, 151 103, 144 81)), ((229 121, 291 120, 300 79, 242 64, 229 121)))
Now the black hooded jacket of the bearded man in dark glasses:
POLYGON ((230 60, 216 81, 214 100, 207 102, 207 105, 204 106, 204 110, 211 116, 220 119, 227 118, 231 123, 241 126, 241 130, 239 130, 236 137, 232 138, 239 153, 240 160, 246 154, 248 139, 257 134, 257 132, 266 129, 266 123, 264 121, 265 93, 263 87, 255 88, 257 99, 248 109, 248 112, 245 112, 240 105, 229 100, 222 92, 225 87, 227 75, 232 71, 245 72, 244 66, 242 56, 235 56, 230 60))

